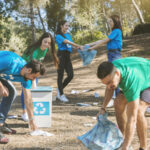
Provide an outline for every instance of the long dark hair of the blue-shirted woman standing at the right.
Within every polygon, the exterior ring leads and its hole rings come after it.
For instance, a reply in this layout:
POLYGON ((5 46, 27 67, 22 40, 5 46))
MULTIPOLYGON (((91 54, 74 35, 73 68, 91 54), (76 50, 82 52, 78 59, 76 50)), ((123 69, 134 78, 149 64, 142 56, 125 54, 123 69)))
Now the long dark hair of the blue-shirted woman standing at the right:
POLYGON ((120 17, 118 15, 112 15, 110 16, 110 18, 113 20, 114 22, 114 27, 112 30, 114 29, 120 29, 122 31, 122 26, 121 26, 121 22, 120 22, 120 17))

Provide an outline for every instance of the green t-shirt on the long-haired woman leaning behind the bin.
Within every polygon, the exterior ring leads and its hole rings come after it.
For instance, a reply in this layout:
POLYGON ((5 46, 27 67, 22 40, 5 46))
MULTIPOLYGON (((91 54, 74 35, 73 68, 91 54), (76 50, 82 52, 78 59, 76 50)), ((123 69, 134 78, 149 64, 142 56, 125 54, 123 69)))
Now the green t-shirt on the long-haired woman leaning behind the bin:
MULTIPOLYGON (((46 48, 44 51, 41 50, 40 47, 34 50, 32 54, 32 59, 42 61, 47 53, 48 48, 46 48)), ((22 56, 23 59, 25 59, 27 62, 30 61, 31 57, 30 55, 26 55, 25 53, 22 56)))

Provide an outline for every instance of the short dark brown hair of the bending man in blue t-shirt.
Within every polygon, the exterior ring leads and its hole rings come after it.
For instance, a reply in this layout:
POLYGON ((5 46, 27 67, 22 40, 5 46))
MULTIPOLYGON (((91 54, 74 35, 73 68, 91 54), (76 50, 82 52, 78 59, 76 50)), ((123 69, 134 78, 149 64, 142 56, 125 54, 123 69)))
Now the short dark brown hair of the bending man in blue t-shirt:
POLYGON ((44 75, 46 72, 45 66, 37 60, 31 60, 25 65, 26 68, 31 68, 31 73, 38 73, 40 72, 40 75, 44 75))

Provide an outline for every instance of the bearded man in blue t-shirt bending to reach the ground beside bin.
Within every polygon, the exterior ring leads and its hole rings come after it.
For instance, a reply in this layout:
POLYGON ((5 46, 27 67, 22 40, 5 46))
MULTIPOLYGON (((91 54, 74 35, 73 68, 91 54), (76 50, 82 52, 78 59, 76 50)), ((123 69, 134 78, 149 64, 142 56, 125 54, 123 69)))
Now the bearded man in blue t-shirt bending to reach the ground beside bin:
POLYGON ((2 102, 0 104, 0 143, 8 143, 8 138, 2 133, 15 134, 16 131, 6 126, 5 120, 16 98, 16 89, 10 82, 20 82, 23 86, 25 104, 29 117, 29 126, 31 130, 36 130, 37 126, 33 117, 33 105, 31 97, 31 81, 40 75, 44 75, 45 67, 42 63, 32 60, 29 63, 18 56, 16 53, 9 51, 0 51, 0 95, 2 102))

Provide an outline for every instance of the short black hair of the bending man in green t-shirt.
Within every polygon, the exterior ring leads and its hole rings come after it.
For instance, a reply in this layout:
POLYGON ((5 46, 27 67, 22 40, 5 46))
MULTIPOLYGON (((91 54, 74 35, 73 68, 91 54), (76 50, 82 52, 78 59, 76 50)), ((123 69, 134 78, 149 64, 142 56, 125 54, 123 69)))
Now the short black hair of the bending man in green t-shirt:
POLYGON ((97 77, 104 79, 107 75, 111 74, 114 69, 114 65, 111 62, 105 61, 98 66, 97 77))

